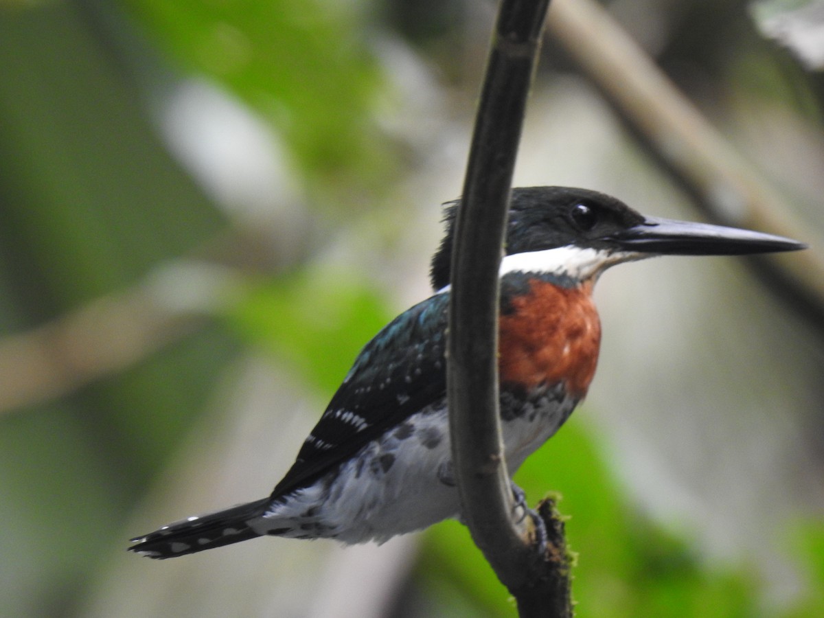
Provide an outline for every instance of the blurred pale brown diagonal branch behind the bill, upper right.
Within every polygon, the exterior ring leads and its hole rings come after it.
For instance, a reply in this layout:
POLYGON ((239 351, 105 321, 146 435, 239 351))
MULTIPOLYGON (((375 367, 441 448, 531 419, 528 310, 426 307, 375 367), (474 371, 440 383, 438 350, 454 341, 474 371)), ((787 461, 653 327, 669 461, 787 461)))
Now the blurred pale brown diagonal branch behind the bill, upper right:
POLYGON ((659 162, 719 222, 798 238, 812 250, 762 257, 824 330, 824 246, 794 208, 728 143, 594 0, 556 0, 547 30, 659 162))

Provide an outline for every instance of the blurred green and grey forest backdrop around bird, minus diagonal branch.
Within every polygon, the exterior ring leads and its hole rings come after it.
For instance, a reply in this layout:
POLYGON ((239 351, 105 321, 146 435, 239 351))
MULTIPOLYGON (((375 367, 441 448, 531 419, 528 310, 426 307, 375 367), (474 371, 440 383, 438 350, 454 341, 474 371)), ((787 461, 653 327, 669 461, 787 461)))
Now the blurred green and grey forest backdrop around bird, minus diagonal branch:
MULTIPOLYGON (((770 36, 816 3, 606 5, 821 251, 822 76, 770 36)), ((428 295, 493 20, 0 2, 0 615, 515 614, 456 522, 125 551, 268 494, 358 349, 428 295)), ((545 44, 516 184, 702 218, 599 90, 545 44)), ((599 283, 588 400, 517 475, 531 503, 563 496, 578 616, 821 615, 822 313, 763 275, 672 258, 599 283)))

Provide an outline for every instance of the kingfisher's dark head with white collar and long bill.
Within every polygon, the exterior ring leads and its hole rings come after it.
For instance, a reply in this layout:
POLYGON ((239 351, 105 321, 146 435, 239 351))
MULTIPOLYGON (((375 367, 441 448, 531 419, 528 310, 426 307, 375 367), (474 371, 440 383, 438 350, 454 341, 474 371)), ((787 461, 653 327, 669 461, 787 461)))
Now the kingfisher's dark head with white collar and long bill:
MULTIPOLYGON (((433 288, 449 284, 457 206, 432 260, 433 288)), ((570 187, 513 189, 501 272, 552 273, 583 281, 612 265, 653 255, 746 255, 803 249, 761 232, 644 217, 610 195, 570 187)))

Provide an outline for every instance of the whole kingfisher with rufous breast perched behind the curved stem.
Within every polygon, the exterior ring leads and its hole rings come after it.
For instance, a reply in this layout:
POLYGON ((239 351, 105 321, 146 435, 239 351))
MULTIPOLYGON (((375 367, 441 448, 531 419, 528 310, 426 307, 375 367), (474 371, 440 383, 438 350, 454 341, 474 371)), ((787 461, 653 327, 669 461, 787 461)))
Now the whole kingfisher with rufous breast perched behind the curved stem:
MULTIPOLYGON (((461 517, 447 417, 447 306, 460 200, 445 204, 433 295, 366 344, 272 494, 133 539, 166 559, 257 536, 377 541, 461 517)), ((499 269, 499 383, 512 475, 583 400, 601 325, 592 288, 607 268, 655 255, 803 249, 761 232, 644 217, 593 190, 513 189, 499 269)), ((513 485, 517 493, 517 487, 513 485)))

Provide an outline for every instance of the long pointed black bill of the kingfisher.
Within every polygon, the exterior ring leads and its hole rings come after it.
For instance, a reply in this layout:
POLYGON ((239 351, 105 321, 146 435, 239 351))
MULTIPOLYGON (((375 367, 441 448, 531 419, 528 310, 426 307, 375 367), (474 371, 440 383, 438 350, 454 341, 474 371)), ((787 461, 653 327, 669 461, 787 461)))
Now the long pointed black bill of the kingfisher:
POLYGON ((807 246, 783 236, 737 227, 648 217, 611 240, 624 250, 659 255, 747 255, 795 251, 807 246))

